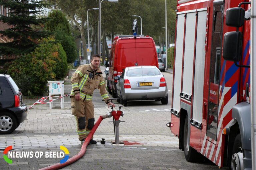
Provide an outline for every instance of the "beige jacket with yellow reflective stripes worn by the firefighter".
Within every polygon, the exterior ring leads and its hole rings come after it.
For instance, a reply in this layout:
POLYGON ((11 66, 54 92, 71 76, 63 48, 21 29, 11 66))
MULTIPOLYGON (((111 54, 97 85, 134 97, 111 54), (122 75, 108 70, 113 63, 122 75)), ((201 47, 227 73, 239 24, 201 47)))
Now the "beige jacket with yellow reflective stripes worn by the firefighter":
POLYGON ((99 67, 95 72, 91 64, 79 66, 71 77, 71 85, 70 96, 75 96, 76 93, 80 92, 81 100, 90 101, 94 90, 98 88, 105 103, 109 102, 107 101, 109 97, 105 89, 105 81, 99 67))

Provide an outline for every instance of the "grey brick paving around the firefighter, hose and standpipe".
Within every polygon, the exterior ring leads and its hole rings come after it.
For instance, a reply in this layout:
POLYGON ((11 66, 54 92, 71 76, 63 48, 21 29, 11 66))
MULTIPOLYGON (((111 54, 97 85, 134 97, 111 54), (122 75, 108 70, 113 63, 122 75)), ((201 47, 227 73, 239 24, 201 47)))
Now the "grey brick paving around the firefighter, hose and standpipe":
MULTIPOLYGON (((64 84, 64 93, 69 94, 70 90, 70 79, 68 79, 64 84)), ((93 96, 95 121, 100 115, 111 111, 100 98, 99 92, 95 91, 93 96)), ((55 109, 51 110, 49 105, 35 105, 28 110, 27 119, 12 134, 0 136, 0 170, 40 169, 59 163, 62 159, 33 156, 33 158, 12 158, 13 163, 8 164, 3 159, 3 150, 10 145, 16 152, 30 151, 33 154, 40 151, 60 152, 60 146, 68 149, 70 157, 80 151, 75 119, 71 115, 70 98, 64 98, 64 109, 60 109, 59 102, 54 101, 55 109)), ((165 125, 170 121, 169 111, 136 112, 129 107, 123 107, 122 110, 125 115, 120 117, 120 120, 125 122, 120 123, 119 129, 120 140, 124 141, 124 144, 112 145, 111 141, 114 140, 113 123, 110 122, 112 118, 105 119, 94 134, 97 144, 88 145, 86 154, 80 160, 63 169, 218 169, 216 165, 207 161, 189 163, 185 160, 184 153, 178 149, 178 138, 173 136, 165 125), (100 143, 101 138, 106 139, 105 144, 100 143)))

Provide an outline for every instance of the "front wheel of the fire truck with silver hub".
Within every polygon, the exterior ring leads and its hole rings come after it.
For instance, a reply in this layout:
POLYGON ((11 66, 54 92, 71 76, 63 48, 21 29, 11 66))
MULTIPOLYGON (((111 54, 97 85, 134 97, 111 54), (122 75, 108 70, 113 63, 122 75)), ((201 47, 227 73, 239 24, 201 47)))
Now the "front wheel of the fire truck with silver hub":
POLYGON ((233 155, 231 158, 231 169, 244 169, 243 165, 243 149, 242 149, 242 140, 241 134, 236 135, 235 142, 233 145, 233 155))

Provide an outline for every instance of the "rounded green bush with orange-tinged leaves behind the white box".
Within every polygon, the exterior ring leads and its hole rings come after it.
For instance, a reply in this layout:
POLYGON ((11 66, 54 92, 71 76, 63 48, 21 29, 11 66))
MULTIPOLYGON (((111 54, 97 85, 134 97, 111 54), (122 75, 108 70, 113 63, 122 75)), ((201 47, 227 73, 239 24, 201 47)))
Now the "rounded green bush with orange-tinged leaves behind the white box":
MULTIPOLYGON (((24 95, 45 95, 47 81, 55 80, 58 76, 65 76, 67 61, 65 52, 54 39, 43 39, 36 49, 17 58, 8 69, 24 95)), ((58 77, 59 78, 59 77, 58 77)))

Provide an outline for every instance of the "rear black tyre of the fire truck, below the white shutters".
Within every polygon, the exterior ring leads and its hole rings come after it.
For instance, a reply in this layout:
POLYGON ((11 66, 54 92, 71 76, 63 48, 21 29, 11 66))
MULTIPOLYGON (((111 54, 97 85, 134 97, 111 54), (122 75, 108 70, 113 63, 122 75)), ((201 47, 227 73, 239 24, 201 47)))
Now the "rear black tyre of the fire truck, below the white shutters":
POLYGON ((188 115, 186 116, 185 123, 184 123, 183 147, 184 147, 184 155, 188 162, 193 162, 197 160, 197 157, 199 154, 194 148, 189 146, 188 115))

